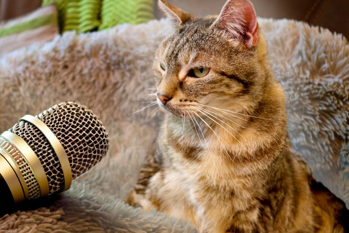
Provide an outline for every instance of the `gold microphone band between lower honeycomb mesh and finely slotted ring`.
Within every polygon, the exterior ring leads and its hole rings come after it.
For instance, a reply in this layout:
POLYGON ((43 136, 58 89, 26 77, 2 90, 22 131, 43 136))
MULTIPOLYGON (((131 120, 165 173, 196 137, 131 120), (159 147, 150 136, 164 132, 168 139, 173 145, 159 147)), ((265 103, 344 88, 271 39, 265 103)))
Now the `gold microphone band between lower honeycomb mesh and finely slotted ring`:
POLYGON ((23 138, 15 133, 5 131, 1 134, 1 137, 5 138, 12 145, 15 145, 17 150, 22 154, 24 160, 27 161, 39 184, 41 196, 44 197, 49 195, 49 182, 47 181, 45 170, 35 152, 23 138))

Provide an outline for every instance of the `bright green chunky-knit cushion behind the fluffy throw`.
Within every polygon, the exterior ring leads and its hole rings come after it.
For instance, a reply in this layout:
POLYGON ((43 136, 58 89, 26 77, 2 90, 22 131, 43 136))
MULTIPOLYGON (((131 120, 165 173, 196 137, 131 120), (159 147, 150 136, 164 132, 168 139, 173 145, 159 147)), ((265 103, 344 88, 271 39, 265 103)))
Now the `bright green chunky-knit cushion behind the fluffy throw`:
POLYGON ((61 32, 103 30, 117 24, 154 19, 154 0, 43 0, 56 2, 61 32))

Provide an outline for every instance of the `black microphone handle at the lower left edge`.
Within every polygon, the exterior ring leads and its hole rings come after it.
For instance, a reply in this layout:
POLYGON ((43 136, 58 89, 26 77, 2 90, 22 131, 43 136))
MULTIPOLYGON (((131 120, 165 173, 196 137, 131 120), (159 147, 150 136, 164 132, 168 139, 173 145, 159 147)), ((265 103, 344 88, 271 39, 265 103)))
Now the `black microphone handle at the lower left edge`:
MULTIPOLYGON (((1 155, 0 155, 1 156, 1 155)), ((10 188, 8 187, 5 179, 0 174, 0 218, 6 213, 14 211, 15 201, 13 199, 10 188)))

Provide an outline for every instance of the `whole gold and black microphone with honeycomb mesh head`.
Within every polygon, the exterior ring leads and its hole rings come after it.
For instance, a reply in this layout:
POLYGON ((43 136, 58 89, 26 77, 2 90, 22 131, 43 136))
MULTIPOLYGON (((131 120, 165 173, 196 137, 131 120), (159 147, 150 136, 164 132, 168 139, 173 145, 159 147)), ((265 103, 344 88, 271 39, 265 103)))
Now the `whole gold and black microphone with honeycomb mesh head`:
POLYGON ((69 189, 73 179, 104 157, 108 146, 102 122, 78 103, 25 115, 0 136, 0 200, 13 207, 69 189))

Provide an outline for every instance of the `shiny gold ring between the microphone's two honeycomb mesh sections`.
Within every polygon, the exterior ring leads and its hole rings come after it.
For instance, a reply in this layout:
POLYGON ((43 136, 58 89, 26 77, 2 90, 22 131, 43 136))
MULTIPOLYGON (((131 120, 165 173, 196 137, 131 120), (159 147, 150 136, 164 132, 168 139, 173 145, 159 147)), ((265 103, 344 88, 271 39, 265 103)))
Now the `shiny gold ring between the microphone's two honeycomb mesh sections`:
POLYGON ((47 138, 49 143, 51 144, 54 152, 56 153, 59 162, 61 164, 63 175, 64 175, 64 190, 69 189, 70 185, 72 184, 72 169, 70 168, 70 163, 68 160, 68 156, 64 150, 64 147, 58 140, 58 138, 52 133, 49 127, 45 125, 44 122, 42 122, 38 117, 34 117, 31 115, 25 115, 23 116, 18 122, 20 121, 27 121, 33 125, 35 125, 47 138))

